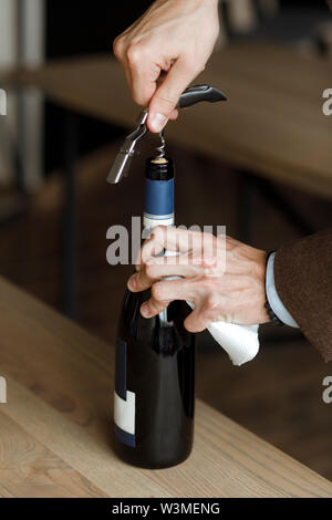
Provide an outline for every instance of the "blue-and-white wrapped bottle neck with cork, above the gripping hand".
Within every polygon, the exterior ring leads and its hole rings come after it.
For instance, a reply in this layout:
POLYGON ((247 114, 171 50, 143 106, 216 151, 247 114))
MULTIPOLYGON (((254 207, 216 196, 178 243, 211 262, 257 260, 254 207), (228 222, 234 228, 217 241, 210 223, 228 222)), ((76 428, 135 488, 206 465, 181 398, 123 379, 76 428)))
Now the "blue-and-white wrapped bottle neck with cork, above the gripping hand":
POLYGON ((151 159, 145 179, 144 227, 174 226, 174 167, 170 159, 151 159))

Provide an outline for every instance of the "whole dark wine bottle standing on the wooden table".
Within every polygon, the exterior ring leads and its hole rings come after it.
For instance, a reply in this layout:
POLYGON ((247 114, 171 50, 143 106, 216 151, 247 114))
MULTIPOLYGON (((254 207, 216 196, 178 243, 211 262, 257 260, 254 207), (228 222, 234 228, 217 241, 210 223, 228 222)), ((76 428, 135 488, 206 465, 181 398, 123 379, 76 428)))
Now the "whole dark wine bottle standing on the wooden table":
MULTIPOLYGON (((172 159, 149 159, 145 228, 174 225, 172 159)), ((126 292, 116 341, 114 423, 116 451, 151 469, 172 467, 191 451, 195 408, 195 335, 184 321, 186 302, 156 318, 141 314, 151 291, 126 292)))

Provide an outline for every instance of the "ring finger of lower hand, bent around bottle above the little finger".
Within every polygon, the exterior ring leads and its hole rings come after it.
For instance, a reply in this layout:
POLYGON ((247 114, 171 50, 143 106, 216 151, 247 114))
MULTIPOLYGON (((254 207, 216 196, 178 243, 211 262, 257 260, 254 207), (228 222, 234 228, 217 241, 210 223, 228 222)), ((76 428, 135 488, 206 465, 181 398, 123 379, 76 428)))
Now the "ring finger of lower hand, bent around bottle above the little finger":
POLYGON ((181 279, 155 283, 152 288, 152 298, 142 305, 142 315, 154 318, 175 300, 196 301, 193 281, 181 279))

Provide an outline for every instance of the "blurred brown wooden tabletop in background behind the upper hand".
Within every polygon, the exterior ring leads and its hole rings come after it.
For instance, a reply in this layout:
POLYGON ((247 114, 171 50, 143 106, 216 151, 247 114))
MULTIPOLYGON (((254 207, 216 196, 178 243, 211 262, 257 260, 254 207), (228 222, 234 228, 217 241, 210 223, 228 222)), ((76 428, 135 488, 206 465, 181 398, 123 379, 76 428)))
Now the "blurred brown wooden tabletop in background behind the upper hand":
MULTIPOLYGON (((53 62, 13 74, 11 81, 38 86, 61 105, 120 126, 132 128, 138 115, 111 56, 53 62)), ((225 90, 228 103, 190 107, 168 125, 167 136, 232 167, 332 198, 332 117, 322 112, 331 81, 329 61, 291 48, 229 45, 197 80, 225 90)))

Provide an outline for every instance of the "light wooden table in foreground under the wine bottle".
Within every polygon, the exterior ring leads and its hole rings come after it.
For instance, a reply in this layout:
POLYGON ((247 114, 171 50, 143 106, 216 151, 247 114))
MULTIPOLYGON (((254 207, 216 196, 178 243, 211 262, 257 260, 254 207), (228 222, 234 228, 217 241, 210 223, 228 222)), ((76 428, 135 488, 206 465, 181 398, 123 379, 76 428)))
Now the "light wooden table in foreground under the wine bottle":
POLYGON ((332 497, 332 483, 197 403, 194 453, 149 471, 113 453, 114 350, 0 279, 2 497, 332 497))

